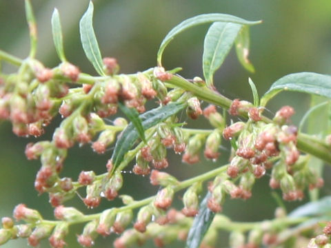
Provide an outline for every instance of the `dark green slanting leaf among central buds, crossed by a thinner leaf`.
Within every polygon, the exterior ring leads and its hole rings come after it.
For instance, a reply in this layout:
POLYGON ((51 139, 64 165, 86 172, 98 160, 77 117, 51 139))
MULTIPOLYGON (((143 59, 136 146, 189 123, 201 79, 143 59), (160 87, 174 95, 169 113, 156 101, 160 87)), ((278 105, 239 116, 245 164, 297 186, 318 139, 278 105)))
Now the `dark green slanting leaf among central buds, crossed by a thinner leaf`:
MULTIPOLYGON (((185 103, 169 103, 163 107, 150 110, 139 116, 143 130, 157 125, 166 118, 177 114, 177 112, 183 110, 186 107, 185 103)), ((117 140, 117 143, 112 153, 112 164, 113 169, 116 169, 119 164, 123 161, 124 155, 132 148, 135 141, 139 138, 137 128, 134 127, 133 123, 130 123, 121 134, 121 138, 117 140)))

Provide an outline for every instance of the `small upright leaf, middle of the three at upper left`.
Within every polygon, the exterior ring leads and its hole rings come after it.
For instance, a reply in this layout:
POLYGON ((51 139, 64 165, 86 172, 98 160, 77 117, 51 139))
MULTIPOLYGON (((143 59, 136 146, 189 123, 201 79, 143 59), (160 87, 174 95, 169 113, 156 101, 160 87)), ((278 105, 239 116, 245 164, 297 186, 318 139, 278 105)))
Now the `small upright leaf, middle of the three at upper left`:
POLYGON ((57 50, 57 55, 59 56, 61 61, 64 62, 67 59, 64 55, 61 21, 57 8, 54 9, 52 14, 52 34, 55 50, 57 50))

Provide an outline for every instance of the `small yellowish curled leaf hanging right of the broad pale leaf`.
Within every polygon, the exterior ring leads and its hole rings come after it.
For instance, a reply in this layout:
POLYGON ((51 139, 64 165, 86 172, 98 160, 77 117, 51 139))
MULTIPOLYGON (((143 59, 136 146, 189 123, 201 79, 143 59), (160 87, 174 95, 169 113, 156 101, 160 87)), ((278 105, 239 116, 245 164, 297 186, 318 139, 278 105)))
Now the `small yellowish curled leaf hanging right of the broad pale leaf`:
POLYGON ((237 56, 243 68, 248 72, 255 72, 254 66, 248 59, 250 54, 250 27, 248 25, 242 26, 235 43, 237 56))

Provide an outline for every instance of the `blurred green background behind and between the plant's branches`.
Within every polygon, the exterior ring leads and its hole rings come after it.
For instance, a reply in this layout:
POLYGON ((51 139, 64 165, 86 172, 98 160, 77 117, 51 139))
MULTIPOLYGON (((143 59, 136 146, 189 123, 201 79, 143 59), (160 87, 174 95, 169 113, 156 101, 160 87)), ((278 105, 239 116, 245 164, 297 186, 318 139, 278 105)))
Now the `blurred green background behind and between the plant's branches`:
MULTIPOLYGON (((52 45, 50 28, 52 10, 58 8, 68 59, 83 72, 95 74, 79 42, 79 19, 88 6, 88 0, 32 0, 32 5, 39 28, 37 58, 48 67, 59 63, 52 45)), ((0 49, 21 58, 27 56, 30 45, 23 7, 23 0, 0 0, 0 49)), ((261 25, 252 27, 250 33, 250 60, 256 73, 245 72, 234 51, 230 52, 221 70, 217 72, 214 81, 225 96, 252 101, 248 76, 257 85, 259 94, 263 94, 273 81, 285 74, 303 71, 330 74, 330 0, 99 0, 94 1, 94 30, 103 56, 116 57, 121 65, 121 72, 132 73, 156 65, 159 44, 174 25, 194 15, 210 12, 233 14, 252 21, 263 20, 261 25)), ((202 77, 201 56, 207 29, 208 25, 201 25, 179 35, 165 50, 165 68, 182 67, 182 76, 202 77)), ((4 70, 12 72, 14 68, 6 66, 4 70)), ((294 106, 297 114, 293 122, 297 124, 309 106, 308 100, 304 94, 283 93, 272 100, 268 108, 270 112, 275 112, 281 105, 294 106)), ((193 125, 205 125, 202 119, 193 125)), ((41 139, 50 139, 52 130, 58 124, 59 118, 41 139)), ((33 187, 39 161, 27 161, 24 156, 26 143, 30 141, 32 139, 14 136, 10 123, 0 124, 0 216, 11 216, 15 205, 26 203, 28 207, 39 209, 46 218, 52 218, 48 196, 38 196, 33 187)), ((168 171, 179 179, 188 178, 225 163, 227 154, 223 154, 223 158, 217 163, 203 161, 199 165, 183 165, 179 156, 171 156, 168 171)), ((74 147, 69 152, 61 175, 72 176, 77 180, 82 169, 102 173, 109 157, 110 153, 97 156, 88 146, 81 149, 74 147)), ((148 178, 132 174, 124 174, 124 178, 125 186, 121 191, 123 194, 134 192, 134 197, 141 199, 157 192, 157 187, 150 187, 148 184, 148 178)), ((327 182, 323 194, 328 194, 329 191, 330 183, 327 182)), ((276 207, 272 199, 268 176, 265 176, 255 185, 250 200, 227 200, 223 212, 234 220, 241 221, 272 218, 276 207)), ((179 206, 179 200, 177 202, 175 204, 179 206)), ((117 204, 119 203, 103 200, 101 207, 88 210, 78 197, 68 202, 68 205, 74 205, 84 213, 100 211, 117 204)), ((288 207, 293 209, 297 205, 299 203, 291 203, 288 207)), ((79 234, 80 231, 81 227, 72 228, 72 235, 68 238, 69 247, 79 247, 74 234, 79 234)), ((95 247, 112 247, 113 237, 98 238, 95 247)), ((219 238, 220 247, 226 247, 226 238, 222 237, 219 238)), ((183 243, 177 245, 183 247, 183 243)), ((14 240, 3 247, 27 245, 26 240, 14 240)), ((48 247, 47 242, 43 242, 41 247, 48 247)), ((146 247, 154 245, 148 242, 146 247)))

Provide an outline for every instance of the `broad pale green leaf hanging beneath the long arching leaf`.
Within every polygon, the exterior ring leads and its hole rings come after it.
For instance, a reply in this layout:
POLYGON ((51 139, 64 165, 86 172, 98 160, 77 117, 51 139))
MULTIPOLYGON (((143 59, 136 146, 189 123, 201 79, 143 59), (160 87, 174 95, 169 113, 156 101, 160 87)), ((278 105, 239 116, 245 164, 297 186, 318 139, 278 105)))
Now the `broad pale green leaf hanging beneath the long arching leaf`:
POLYGON ((212 85, 212 77, 222 65, 237 38, 242 25, 238 23, 215 22, 205 35, 202 68, 207 85, 212 85))

